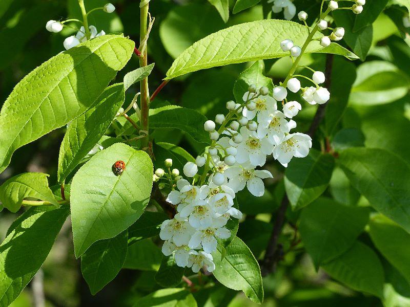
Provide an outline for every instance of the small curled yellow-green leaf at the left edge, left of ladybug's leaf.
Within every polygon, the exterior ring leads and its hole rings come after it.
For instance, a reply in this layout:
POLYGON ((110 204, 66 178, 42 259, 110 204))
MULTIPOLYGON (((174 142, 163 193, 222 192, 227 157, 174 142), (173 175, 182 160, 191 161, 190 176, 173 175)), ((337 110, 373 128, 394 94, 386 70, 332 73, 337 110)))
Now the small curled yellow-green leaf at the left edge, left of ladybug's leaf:
POLYGON ((47 201, 58 206, 48 187, 48 174, 28 172, 18 174, 0 186, 0 201, 11 212, 17 212, 26 198, 47 201))

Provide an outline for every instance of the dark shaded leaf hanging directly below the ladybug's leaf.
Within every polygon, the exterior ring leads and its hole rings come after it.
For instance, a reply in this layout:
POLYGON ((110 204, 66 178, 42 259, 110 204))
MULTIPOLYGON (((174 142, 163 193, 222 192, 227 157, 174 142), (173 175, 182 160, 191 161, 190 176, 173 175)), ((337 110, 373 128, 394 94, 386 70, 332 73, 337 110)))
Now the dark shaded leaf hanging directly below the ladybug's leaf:
POLYGON ((81 256, 81 272, 95 295, 117 276, 127 256, 127 231, 94 243, 81 256))

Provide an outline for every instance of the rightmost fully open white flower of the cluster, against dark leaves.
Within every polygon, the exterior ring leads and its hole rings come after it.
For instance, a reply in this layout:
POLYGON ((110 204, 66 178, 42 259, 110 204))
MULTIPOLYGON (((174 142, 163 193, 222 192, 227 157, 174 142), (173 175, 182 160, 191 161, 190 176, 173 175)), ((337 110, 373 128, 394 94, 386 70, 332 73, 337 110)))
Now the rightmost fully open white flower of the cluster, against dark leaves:
POLYGON ((293 157, 304 158, 308 156, 309 149, 312 147, 312 138, 302 133, 289 134, 283 142, 276 145, 273 149, 273 157, 284 167, 293 157))

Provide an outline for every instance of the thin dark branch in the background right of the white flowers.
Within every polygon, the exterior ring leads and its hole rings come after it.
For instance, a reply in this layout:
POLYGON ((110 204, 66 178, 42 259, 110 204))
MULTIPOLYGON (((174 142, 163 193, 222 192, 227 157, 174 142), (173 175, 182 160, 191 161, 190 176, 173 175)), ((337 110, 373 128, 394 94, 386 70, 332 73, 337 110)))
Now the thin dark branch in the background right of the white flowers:
MULTIPOLYGON (((330 89, 331 86, 331 76, 332 76, 332 68, 333 68, 333 54, 326 55, 326 67, 325 67, 325 83, 324 86, 327 89, 330 89)), ((315 117, 312 120, 312 124, 309 128, 308 134, 312 137, 317 129, 319 128, 320 122, 323 120, 325 115, 325 108, 327 103, 320 104, 317 108, 315 117)), ((282 230, 283 223, 285 221, 285 214, 286 210, 289 206, 289 199, 288 196, 284 195, 282 199, 282 203, 277 211, 276 219, 274 222, 273 230, 271 237, 269 239, 268 247, 266 249, 265 256, 261 262, 261 273, 262 276, 266 276, 269 273, 275 271, 276 263, 280 259, 280 253, 278 253, 278 238, 282 230)))

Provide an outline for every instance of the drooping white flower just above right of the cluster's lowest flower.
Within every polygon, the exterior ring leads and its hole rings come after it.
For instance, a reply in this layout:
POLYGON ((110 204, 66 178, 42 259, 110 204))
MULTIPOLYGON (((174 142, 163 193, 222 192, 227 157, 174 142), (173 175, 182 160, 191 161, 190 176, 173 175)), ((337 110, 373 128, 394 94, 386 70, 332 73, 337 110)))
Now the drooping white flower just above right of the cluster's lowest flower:
POLYGON ((189 240, 188 246, 194 248, 201 245, 206 253, 216 251, 218 241, 216 238, 227 239, 231 236, 231 231, 224 227, 209 227, 207 229, 196 231, 189 240))

